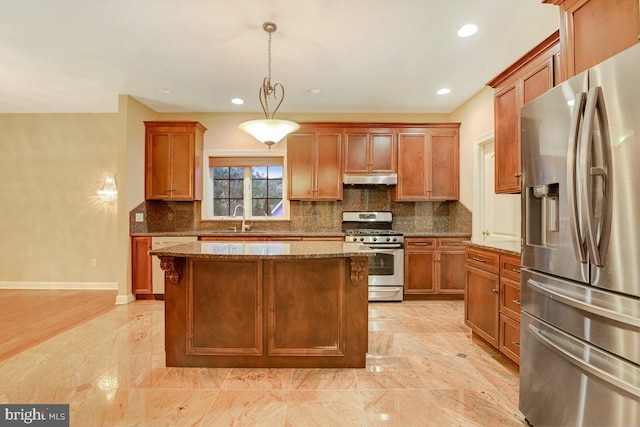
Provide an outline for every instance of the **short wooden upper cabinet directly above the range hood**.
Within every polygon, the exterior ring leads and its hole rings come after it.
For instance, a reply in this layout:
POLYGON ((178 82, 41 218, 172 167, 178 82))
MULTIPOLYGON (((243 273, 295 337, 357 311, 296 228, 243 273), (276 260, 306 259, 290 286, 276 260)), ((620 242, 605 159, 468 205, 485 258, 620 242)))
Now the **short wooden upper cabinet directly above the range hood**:
POLYGON ((344 131, 344 173, 394 173, 394 129, 362 128, 344 131))

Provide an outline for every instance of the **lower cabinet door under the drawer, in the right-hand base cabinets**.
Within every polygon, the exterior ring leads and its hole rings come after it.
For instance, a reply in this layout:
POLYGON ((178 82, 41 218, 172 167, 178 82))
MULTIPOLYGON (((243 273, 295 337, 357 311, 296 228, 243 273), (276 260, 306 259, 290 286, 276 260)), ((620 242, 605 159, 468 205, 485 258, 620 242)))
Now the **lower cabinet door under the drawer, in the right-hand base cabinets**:
POLYGON ((480 337, 498 348, 498 275, 468 265, 464 274, 465 323, 480 337))

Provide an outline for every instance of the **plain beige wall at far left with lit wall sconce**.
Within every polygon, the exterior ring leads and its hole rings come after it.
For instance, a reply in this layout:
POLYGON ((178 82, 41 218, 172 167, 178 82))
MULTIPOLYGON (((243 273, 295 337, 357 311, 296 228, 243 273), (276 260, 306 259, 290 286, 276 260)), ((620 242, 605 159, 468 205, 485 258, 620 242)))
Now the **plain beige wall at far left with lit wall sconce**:
POLYGON ((118 114, 0 115, 0 286, 115 286, 117 203, 97 191, 120 137, 118 114))

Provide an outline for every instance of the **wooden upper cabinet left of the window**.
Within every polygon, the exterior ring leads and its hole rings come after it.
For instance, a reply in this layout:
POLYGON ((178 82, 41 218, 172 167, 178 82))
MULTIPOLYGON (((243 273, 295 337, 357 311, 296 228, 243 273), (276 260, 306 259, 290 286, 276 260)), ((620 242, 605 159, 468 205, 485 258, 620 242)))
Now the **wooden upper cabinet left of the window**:
POLYGON ((145 199, 202 200, 204 132, 198 122, 144 122, 145 199))

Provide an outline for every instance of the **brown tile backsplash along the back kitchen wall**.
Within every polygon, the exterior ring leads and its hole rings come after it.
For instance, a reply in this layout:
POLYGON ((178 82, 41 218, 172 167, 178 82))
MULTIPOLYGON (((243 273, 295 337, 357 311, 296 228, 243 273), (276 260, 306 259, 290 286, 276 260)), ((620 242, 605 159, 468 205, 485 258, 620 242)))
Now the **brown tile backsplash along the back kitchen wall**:
MULTIPOLYGON (((402 232, 468 232, 471 212, 460 202, 395 202, 389 187, 345 187, 337 202, 292 201, 290 221, 254 221, 254 231, 336 232, 343 211, 391 211, 393 228, 402 232)), ((227 231, 234 222, 202 220, 200 202, 146 201, 130 212, 132 233, 227 231), (145 221, 135 222, 143 213, 145 221)), ((240 221, 238 221, 240 223, 240 221)))

